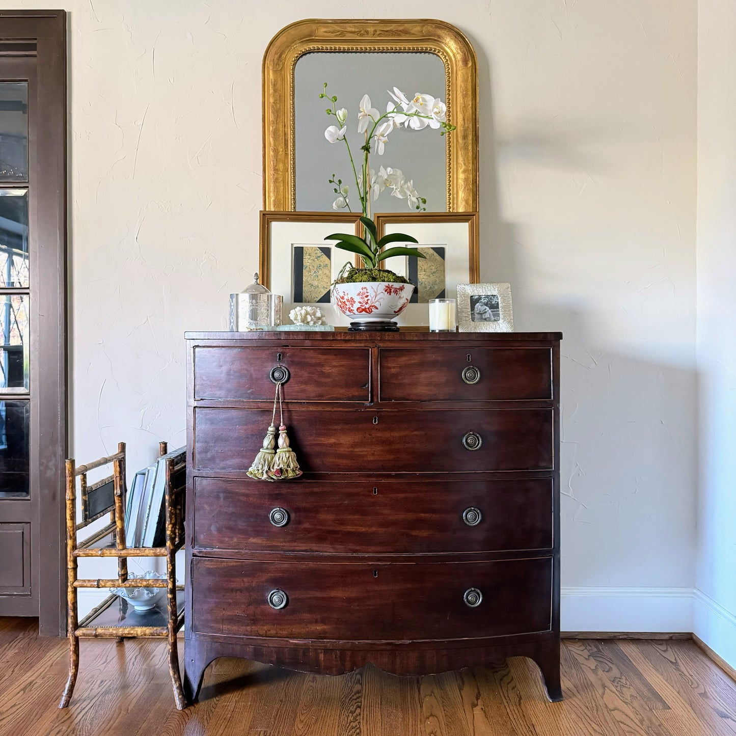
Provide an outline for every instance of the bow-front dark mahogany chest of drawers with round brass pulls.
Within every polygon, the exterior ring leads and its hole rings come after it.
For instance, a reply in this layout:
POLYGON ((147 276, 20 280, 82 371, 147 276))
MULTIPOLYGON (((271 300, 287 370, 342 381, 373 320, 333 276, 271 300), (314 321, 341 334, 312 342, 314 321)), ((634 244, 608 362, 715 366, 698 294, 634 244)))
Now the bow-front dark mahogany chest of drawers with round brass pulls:
MULTIPOLYGON (((185 690, 537 662, 559 685, 559 333, 188 333, 185 690), (278 378, 304 475, 247 477, 278 378)), ((278 421, 277 421, 278 423, 278 421)))

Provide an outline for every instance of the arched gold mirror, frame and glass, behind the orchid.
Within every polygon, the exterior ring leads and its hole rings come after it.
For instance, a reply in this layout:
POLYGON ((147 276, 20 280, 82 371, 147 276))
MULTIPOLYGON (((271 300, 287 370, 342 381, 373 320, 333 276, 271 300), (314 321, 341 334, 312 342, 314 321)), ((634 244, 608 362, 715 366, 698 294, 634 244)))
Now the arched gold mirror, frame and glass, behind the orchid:
MULTIPOLYGON (((421 183, 428 212, 478 210, 478 81, 473 46, 443 21, 305 20, 275 35, 263 56, 263 207, 281 211, 333 210, 344 178, 344 152, 325 141, 336 122, 330 99, 347 108, 351 147, 360 150, 358 109, 364 94, 386 111, 394 86, 411 99, 435 96, 447 105, 448 135, 402 130, 376 165, 400 169, 421 183), (390 155, 389 155, 390 153, 390 155), (340 173, 342 171, 342 174, 340 173)), ((378 157, 376 157, 378 158, 378 157)), ((417 190, 419 187, 417 186, 417 190)), ((386 192, 375 210, 407 212, 406 199, 386 192), (393 200, 393 201, 392 201, 393 200)))

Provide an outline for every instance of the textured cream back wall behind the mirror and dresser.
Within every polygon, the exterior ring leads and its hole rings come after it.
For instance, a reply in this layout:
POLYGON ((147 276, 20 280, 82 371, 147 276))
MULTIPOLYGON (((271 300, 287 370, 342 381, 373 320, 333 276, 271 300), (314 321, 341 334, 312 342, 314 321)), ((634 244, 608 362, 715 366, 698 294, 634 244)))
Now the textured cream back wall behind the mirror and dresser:
MULTIPOLYGON (((224 328, 258 265, 269 39, 421 13, 478 53, 482 278, 565 332, 563 585, 692 587, 696 0, 63 4, 77 458, 184 440, 183 332, 224 328)), ((563 628, 595 628, 573 598, 563 628)))

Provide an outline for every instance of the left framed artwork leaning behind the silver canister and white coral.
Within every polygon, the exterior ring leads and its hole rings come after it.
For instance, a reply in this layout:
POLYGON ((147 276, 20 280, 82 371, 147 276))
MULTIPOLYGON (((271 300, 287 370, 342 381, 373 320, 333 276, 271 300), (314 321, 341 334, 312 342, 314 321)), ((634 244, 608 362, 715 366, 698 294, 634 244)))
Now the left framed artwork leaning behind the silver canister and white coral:
POLYGON ((333 233, 362 235, 361 213, 261 212, 261 283, 283 297, 284 321, 298 306, 319 306, 331 325, 350 324, 330 305, 330 284, 352 253, 339 250, 325 237, 333 233), (326 308, 326 309, 325 309, 326 308))

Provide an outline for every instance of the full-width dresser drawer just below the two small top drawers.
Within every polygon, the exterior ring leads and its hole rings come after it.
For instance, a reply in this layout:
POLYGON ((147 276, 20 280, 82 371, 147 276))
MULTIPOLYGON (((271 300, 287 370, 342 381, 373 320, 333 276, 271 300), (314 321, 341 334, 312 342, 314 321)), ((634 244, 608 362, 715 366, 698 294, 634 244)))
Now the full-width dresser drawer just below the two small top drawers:
MULTIPOLYGON (((271 415, 269 410, 196 408, 194 467, 247 470, 271 415)), ((462 473, 550 470, 553 465, 552 409, 287 408, 285 420, 305 472, 462 473)))

